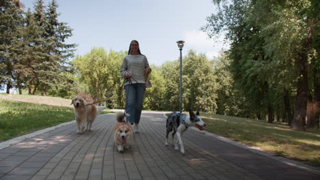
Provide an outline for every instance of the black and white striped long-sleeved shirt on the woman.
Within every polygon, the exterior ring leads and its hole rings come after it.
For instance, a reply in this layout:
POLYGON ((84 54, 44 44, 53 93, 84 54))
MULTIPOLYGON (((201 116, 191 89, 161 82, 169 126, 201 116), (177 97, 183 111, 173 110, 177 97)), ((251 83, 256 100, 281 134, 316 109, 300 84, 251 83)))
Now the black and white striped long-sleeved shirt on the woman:
MULTIPOLYGON (((126 72, 131 74, 132 83, 145 83, 146 77, 144 72, 149 67, 148 59, 144 55, 126 55, 120 66, 120 75, 126 79, 126 72)), ((126 80, 124 85, 129 85, 129 80, 126 80)))

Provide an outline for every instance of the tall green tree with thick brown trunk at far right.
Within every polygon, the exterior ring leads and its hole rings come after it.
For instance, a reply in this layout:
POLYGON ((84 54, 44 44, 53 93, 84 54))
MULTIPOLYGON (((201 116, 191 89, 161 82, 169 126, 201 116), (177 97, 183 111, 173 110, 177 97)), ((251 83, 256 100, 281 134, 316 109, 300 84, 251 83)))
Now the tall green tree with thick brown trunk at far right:
MULTIPOLYGON (((263 1, 258 4, 258 7, 265 6, 263 1)), ((268 7, 271 7, 268 13, 270 18, 267 18, 265 23, 269 26, 262 29, 262 33, 269 37, 265 52, 272 57, 274 64, 277 65, 280 61, 284 65, 280 72, 293 76, 296 95, 291 128, 305 130, 308 94, 312 92, 309 83, 312 80, 309 77, 310 65, 315 64, 310 62, 319 59, 319 43, 315 42, 319 40, 319 34, 315 32, 319 29, 320 4, 313 0, 282 1, 271 2, 268 7), (278 48, 279 46, 281 48, 278 48)))

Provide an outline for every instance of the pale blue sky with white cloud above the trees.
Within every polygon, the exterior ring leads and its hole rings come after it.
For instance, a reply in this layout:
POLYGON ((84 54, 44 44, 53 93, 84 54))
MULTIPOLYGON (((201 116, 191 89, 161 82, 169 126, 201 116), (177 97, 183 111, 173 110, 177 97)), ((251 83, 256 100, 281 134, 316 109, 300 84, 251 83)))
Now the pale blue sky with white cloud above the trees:
MULTIPOLYGON (((48 5, 51 0, 44 0, 48 5)), ((75 55, 86 55, 94 47, 129 50, 131 40, 139 42, 148 62, 161 65, 179 59, 176 42, 185 41, 189 50, 205 53, 209 59, 228 44, 210 40, 200 31, 206 17, 215 12, 211 0, 56 0, 59 22, 73 29, 67 43, 78 44, 75 55)), ((25 10, 34 10, 34 0, 21 0, 25 10)), ((223 37, 221 37, 223 40, 223 37)))

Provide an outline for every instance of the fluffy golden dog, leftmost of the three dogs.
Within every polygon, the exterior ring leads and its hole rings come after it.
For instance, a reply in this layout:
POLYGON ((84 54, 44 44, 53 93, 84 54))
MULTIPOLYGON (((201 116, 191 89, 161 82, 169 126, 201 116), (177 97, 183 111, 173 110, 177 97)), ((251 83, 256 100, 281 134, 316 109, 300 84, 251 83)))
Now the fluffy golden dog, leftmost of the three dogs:
POLYGON ((92 97, 85 93, 79 93, 72 99, 71 104, 75 106, 75 119, 77 121, 78 134, 83 134, 85 123, 87 123, 85 131, 91 131, 92 123, 97 115, 96 105, 92 104, 92 102, 92 97))

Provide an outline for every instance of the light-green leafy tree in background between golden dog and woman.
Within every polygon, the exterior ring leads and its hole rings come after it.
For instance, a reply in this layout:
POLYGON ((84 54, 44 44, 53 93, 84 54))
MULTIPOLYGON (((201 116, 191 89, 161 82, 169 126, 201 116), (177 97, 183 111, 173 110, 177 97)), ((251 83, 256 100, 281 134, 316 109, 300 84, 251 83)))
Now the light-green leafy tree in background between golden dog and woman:
POLYGON ((123 57, 123 52, 117 53, 110 50, 107 53, 104 48, 92 48, 87 55, 77 56, 72 60, 77 76, 88 85, 88 93, 94 100, 105 99, 106 96, 111 95, 109 92, 114 87, 120 87, 119 62, 123 57), (118 71, 117 68, 119 68, 118 71))

